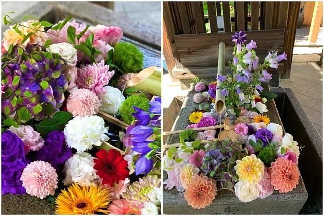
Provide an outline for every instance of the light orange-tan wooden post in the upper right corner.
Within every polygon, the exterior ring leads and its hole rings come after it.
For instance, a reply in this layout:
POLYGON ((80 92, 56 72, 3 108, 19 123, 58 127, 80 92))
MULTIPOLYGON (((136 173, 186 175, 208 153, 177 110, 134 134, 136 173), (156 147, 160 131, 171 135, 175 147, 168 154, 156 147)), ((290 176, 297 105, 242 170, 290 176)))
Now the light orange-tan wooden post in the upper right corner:
POLYGON ((323 2, 317 1, 315 3, 313 18, 311 20, 311 25, 309 29, 309 36, 308 36, 309 43, 316 43, 322 18, 323 18, 323 2))

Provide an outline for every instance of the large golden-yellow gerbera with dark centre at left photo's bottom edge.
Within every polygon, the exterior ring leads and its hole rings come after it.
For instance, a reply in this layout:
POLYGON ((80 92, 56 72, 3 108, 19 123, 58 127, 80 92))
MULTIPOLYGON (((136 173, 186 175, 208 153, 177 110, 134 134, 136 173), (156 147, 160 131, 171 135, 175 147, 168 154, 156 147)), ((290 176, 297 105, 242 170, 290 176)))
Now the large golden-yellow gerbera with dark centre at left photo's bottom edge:
POLYGON ((88 187, 73 183, 56 198, 55 214, 109 214, 110 201, 108 190, 101 185, 88 187))

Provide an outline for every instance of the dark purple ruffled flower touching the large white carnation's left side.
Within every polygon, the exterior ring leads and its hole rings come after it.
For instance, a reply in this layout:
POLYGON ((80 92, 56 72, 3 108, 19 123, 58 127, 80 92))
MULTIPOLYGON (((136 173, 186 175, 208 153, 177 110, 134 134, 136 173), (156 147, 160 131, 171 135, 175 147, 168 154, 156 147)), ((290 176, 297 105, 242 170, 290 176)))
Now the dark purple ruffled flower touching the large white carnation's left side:
POLYGON ((50 163, 57 172, 63 169, 67 159, 72 156, 72 149, 65 143, 64 132, 54 130, 47 135, 45 145, 34 153, 35 160, 50 163))

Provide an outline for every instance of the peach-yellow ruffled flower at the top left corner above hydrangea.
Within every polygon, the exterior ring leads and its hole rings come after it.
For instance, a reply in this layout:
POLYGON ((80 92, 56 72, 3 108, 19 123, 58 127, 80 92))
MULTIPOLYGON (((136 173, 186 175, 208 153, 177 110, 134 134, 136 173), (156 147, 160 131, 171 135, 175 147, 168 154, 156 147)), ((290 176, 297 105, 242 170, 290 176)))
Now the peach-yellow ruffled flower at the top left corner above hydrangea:
POLYGON ((22 35, 18 34, 14 30, 14 25, 9 26, 9 29, 7 29, 4 33, 4 44, 6 50, 8 50, 10 44, 16 45, 22 45, 23 47, 26 47, 27 44, 38 44, 40 46, 43 46, 45 41, 48 39, 46 33, 44 32, 44 27, 41 25, 33 26, 33 23, 39 22, 38 20, 28 20, 25 22, 21 22, 20 26, 17 25, 18 30, 22 33, 22 35), (34 34, 32 34, 23 44, 21 44, 21 41, 23 38, 31 32, 35 32, 36 29, 38 31, 34 34))

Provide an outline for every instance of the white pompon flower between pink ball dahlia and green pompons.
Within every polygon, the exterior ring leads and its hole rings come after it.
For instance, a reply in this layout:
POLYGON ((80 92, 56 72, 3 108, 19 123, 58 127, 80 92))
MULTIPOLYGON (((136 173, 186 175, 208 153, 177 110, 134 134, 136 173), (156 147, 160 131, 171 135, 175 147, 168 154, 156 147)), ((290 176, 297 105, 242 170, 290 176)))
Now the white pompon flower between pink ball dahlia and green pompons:
POLYGON ((120 105, 125 100, 121 91, 112 86, 105 86, 106 94, 101 95, 101 110, 105 113, 115 115, 120 105))

